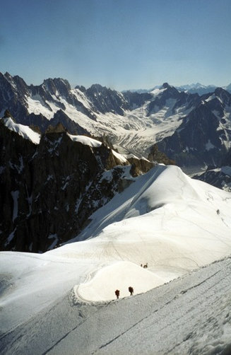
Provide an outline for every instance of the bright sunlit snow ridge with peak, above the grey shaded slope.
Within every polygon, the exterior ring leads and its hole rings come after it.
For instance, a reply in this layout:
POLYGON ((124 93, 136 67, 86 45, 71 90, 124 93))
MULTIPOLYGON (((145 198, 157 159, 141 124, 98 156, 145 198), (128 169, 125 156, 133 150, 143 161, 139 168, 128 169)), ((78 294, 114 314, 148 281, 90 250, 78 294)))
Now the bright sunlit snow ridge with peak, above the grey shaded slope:
MULTIPOLYGON (((191 180, 176 166, 159 165, 97 210, 78 237, 83 241, 73 240, 43 255, 1 252, 4 339, 20 323, 28 324, 32 315, 40 317, 49 313, 49 305, 63 304, 66 294, 69 305, 88 303, 90 307, 97 301, 103 307, 111 304, 116 289, 123 301, 132 300, 128 290, 132 286, 136 303, 138 293, 227 257, 231 252, 230 207, 230 193, 191 180), (141 264, 147 262, 148 268, 143 269, 141 264)), ((215 274, 218 271, 211 277, 215 274)), ((201 279, 195 284, 201 285, 201 279)), ((184 286, 177 292, 181 296, 191 289, 190 284, 189 290, 184 286)), ((110 339, 106 343, 111 344, 110 339)), ((57 344, 64 343, 58 339, 57 344)))

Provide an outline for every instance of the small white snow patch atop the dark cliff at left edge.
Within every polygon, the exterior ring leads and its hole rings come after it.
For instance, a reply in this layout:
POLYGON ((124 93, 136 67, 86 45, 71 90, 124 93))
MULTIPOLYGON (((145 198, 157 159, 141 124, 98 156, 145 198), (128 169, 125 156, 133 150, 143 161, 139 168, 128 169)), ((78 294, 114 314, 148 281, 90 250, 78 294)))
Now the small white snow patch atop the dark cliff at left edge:
POLYGON ((13 122, 11 117, 2 118, 1 120, 4 120, 5 126, 8 127, 8 129, 10 129, 11 131, 18 133, 25 139, 30 139, 30 141, 35 144, 40 143, 40 134, 33 131, 30 127, 25 126, 24 124, 18 124, 16 122, 13 122))

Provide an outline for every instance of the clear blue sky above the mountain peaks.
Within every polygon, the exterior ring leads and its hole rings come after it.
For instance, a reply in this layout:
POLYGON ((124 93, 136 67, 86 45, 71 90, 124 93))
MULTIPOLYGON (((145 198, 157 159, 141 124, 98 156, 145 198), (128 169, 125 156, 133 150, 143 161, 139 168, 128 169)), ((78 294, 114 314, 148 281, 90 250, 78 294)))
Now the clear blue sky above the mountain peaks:
POLYGON ((117 90, 231 82, 231 0, 0 0, 0 71, 117 90))

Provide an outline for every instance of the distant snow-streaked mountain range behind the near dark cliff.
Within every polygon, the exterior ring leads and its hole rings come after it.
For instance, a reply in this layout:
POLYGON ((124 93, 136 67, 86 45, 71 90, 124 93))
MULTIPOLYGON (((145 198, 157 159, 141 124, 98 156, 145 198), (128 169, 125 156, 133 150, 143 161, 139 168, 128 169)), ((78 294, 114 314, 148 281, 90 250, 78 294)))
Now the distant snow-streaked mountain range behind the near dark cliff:
POLYGON ((222 163, 230 150, 230 107, 224 88, 199 95, 164 83, 149 93, 120 93, 99 84, 71 88, 61 78, 27 86, 0 74, 1 116, 8 109, 17 123, 40 132, 61 123, 70 134, 107 136, 120 153, 150 159, 158 143, 182 167, 222 163))

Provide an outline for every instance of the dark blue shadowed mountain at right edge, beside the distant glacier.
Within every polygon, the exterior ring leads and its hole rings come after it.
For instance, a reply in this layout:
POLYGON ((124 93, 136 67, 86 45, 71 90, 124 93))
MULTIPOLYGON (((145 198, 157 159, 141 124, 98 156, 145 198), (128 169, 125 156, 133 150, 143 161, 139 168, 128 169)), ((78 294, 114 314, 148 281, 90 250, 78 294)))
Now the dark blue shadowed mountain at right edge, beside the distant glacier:
POLYGON ((231 139, 230 119, 225 117, 230 99, 222 88, 203 95, 174 134, 158 142, 160 150, 180 166, 220 166, 231 139))

